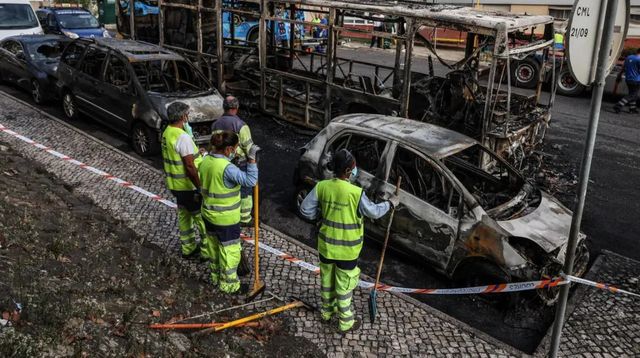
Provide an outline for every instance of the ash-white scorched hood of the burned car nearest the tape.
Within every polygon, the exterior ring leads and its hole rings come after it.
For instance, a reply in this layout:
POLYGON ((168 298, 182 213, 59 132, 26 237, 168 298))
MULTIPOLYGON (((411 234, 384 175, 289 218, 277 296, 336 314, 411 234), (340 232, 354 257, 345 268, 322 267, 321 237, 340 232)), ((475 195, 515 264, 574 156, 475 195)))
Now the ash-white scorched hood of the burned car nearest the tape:
POLYGON ((498 221, 510 235, 534 241, 546 252, 567 243, 573 213, 558 199, 541 192, 540 205, 527 215, 513 220, 498 221))

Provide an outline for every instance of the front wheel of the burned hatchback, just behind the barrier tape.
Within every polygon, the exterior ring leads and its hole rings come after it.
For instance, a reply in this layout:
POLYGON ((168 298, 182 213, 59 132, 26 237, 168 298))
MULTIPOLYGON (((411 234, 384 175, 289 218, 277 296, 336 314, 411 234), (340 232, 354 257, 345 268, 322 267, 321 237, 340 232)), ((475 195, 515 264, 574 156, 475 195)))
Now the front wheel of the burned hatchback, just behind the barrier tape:
MULTIPOLYGON (((511 281, 506 272, 489 261, 473 260, 460 265, 454 274, 454 280, 460 287, 495 285, 511 281)), ((505 304, 510 299, 507 293, 483 293, 475 297, 496 304, 505 304)))

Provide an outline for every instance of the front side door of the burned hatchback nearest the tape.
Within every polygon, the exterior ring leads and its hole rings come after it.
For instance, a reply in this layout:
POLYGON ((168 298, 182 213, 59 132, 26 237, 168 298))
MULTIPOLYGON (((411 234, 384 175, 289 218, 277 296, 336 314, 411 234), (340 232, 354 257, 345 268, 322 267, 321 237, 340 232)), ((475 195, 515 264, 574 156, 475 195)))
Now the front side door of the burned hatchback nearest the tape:
MULTIPOLYGON (((444 270, 464 212, 463 196, 438 162, 417 150, 394 143, 388 158, 386 180, 376 194, 395 192, 402 177, 390 246, 444 270)), ((386 227, 388 219, 385 216, 379 226, 386 227)))

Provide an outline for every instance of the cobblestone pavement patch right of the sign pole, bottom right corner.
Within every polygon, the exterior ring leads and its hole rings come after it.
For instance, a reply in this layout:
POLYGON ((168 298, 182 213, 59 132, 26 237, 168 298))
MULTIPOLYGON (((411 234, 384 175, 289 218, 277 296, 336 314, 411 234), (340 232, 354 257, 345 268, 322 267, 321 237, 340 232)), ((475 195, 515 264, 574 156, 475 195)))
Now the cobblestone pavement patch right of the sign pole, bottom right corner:
MULTIPOLYGON (((640 292, 640 262, 604 251, 585 277, 640 292)), ((610 294, 597 288, 578 288, 580 300, 562 331, 560 355, 584 357, 640 356, 640 299, 610 294)), ((548 339, 538 348, 544 355, 548 339)))

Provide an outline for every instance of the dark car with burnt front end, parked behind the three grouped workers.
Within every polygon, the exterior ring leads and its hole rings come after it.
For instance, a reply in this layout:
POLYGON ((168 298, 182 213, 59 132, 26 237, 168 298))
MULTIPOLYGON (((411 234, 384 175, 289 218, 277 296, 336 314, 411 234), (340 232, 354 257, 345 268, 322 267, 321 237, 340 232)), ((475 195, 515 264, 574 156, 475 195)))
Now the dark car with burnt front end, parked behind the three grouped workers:
POLYGON ((58 66, 65 115, 85 112, 128 136, 140 155, 160 151, 167 106, 191 107, 195 141, 207 143, 211 123, 222 113, 222 97, 184 57, 162 47, 114 38, 77 39, 58 66))

